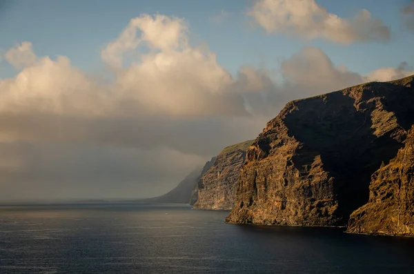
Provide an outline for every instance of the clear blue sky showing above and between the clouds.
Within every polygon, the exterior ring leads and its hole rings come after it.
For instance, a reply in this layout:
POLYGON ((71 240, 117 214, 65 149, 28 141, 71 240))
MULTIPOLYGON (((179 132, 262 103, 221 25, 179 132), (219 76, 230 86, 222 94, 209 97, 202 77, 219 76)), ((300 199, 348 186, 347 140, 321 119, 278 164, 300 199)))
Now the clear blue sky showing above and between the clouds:
MULTIPOLYGON (((317 46, 337 65, 362 74, 376 68, 413 63, 414 35, 404 30, 400 9, 406 0, 327 1, 317 3, 339 17, 353 17, 367 9, 373 18, 382 19, 392 30, 388 43, 354 43, 338 45, 317 39, 304 41, 284 35, 268 35, 249 24, 246 10, 250 1, 193 0, 90 0, 90 1, 10 1, 0 17, 0 48, 7 50, 21 41, 31 41, 39 56, 68 56, 83 70, 99 70, 100 49, 115 39, 128 21, 142 13, 166 14, 186 19, 193 44, 206 42, 217 53, 221 66, 236 72, 242 64, 266 63, 277 68, 277 61, 293 55, 304 46, 317 46), (228 18, 217 24, 210 18, 221 10, 228 18)), ((16 71, 3 63, 1 75, 10 77, 16 71)))

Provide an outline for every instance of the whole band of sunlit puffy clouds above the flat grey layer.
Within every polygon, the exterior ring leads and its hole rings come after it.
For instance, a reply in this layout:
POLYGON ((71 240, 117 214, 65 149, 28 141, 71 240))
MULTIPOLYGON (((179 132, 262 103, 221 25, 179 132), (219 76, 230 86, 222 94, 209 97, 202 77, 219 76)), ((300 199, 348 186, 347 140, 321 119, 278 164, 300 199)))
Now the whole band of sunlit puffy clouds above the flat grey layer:
MULTIPOLYGON (((8 50, 5 56, 22 70, 12 79, 0 79, 0 112, 4 113, 246 117, 272 112, 274 104, 285 104, 288 99, 364 81, 345 66, 335 66, 322 50, 310 47, 284 61, 283 83, 277 83, 277 76, 265 68, 253 66, 242 66, 232 77, 217 63, 214 52, 189 45, 183 19, 161 14, 132 19, 103 48, 102 59, 113 73, 113 81, 105 84, 73 67, 67 57, 37 57, 30 42, 8 50), (133 52, 137 59, 123 65, 129 57, 126 52, 133 52)), ((408 73, 398 71, 390 77, 408 73)))

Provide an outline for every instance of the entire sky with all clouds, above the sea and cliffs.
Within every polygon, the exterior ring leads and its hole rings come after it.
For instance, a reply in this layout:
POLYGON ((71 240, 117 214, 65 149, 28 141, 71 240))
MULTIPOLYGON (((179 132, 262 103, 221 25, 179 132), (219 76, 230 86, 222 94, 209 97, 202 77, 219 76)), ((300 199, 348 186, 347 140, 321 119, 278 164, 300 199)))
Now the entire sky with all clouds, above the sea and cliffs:
POLYGON ((410 0, 0 1, 0 202, 161 195, 413 47, 410 0))

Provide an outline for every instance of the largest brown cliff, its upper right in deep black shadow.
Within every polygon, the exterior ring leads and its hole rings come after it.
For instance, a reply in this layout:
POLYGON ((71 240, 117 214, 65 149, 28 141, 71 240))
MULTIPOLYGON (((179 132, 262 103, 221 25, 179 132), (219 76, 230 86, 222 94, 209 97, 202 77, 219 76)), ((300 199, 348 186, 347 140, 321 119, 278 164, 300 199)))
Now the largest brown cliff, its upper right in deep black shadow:
POLYGON ((291 101, 246 156, 226 222, 344 226, 414 123, 414 77, 291 101))

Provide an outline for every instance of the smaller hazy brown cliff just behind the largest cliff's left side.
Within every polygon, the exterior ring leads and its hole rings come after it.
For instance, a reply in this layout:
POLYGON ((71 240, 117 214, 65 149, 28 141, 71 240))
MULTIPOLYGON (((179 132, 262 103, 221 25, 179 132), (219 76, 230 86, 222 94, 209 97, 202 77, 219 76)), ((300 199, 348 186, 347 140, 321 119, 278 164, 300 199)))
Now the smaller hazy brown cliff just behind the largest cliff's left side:
POLYGON ((196 209, 230 210, 235 204, 236 182, 253 140, 228 146, 198 183, 196 209))

